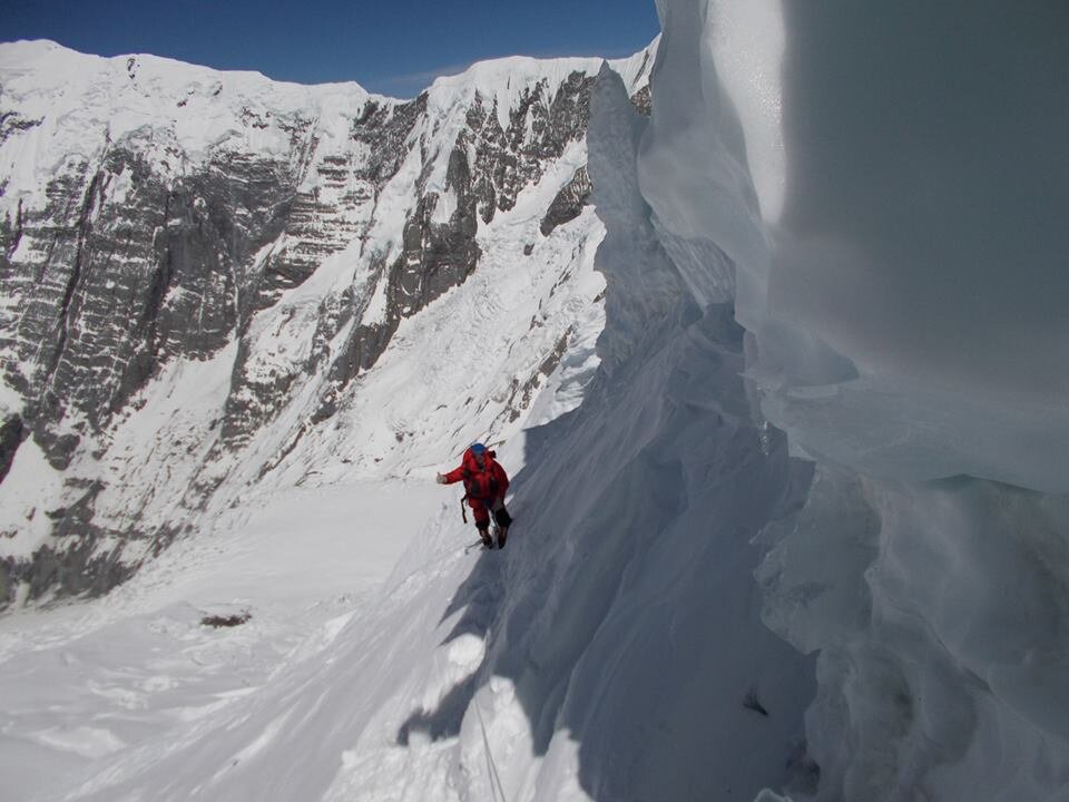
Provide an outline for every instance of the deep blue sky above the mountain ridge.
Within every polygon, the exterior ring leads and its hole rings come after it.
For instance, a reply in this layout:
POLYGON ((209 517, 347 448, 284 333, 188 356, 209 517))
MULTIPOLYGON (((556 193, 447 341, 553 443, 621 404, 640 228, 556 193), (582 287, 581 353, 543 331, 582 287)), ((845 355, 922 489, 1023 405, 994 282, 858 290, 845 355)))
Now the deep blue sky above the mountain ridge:
POLYGON ((411 97, 472 61, 629 55, 654 0, 0 0, 0 40, 101 56, 149 52, 279 80, 355 80, 411 97))

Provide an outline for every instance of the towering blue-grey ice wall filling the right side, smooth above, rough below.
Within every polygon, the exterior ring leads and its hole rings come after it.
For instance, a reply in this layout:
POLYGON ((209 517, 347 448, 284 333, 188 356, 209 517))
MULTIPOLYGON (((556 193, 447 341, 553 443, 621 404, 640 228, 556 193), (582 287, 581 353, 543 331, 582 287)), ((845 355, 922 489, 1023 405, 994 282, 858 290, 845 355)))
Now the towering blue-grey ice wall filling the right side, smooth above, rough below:
POLYGON ((659 12, 643 195, 816 462, 758 577, 821 652, 820 799, 1061 799, 1069 7, 659 12))

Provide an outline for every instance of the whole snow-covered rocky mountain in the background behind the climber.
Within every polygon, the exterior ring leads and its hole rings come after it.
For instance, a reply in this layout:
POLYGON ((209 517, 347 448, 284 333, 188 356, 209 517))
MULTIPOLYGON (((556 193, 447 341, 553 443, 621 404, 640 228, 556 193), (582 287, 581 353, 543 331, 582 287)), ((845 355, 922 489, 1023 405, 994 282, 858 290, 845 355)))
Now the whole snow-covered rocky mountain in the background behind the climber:
MULTIPOLYGON (((647 106, 651 58, 615 62, 647 106)), ((106 590, 253 486, 425 473, 550 384, 573 404, 600 63, 400 101, 0 46, 0 599, 106 590)))

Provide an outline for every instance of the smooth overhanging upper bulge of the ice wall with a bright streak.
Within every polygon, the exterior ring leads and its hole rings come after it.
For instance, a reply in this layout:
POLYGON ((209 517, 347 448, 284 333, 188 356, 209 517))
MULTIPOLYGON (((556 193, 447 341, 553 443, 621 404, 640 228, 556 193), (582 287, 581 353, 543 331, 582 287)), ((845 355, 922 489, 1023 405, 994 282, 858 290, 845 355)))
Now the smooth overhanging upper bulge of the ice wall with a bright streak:
POLYGON ((699 299, 720 288, 702 248, 735 263, 796 447, 1065 492, 1065 9, 958 11, 667 7, 707 36, 666 49, 643 190, 699 299))

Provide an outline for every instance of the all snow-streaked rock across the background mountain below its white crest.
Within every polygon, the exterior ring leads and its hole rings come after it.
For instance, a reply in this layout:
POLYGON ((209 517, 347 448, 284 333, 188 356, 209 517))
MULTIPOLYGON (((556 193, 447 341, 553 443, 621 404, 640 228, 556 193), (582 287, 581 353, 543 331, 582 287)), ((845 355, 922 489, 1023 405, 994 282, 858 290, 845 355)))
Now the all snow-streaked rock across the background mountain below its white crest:
MULTIPOLYGON (((124 80, 137 80, 136 67, 124 80)), ((282 147, 232 144, 194 157, 164 123, 147 120, 67 155, 41 203, 19 200, 13 214, 0 215, 0 370, 23 403, 0 426, 0 481, 27 437, 56 470, 81 467, 65 473, 49 542, 31 560, 0 567, 0 604, 14 579, 28 581, 32 596, 105 591, 136 569, 122 559, 126 544, 147 541, 154 551, 182 530, 180 519, 147 519, 136 508, 120 525, 102 522, 110 480, 90 470, 107 456, 116 421, 168 364, 209 360, 236 343, 225 409, 202 433, 210 438, 205 468, 188 486, 168 489, 182 499, 179 514, 204 509, 224 479, 208 468, 318 382, 313 411, 261 475, 285 459, 308 427, 335 413, 404 319, 478 268, 480 225, 512 209, 586 136, 594 81, 581 71, 559 85, 533 80, 504 126, 493 96, 474 91, 448 120, 424 92, 406 102, 367 99, 341 138, 311 109, 249 107, 237 117, 243 135, 255 141, 273 134, 282 147), (450 120, 462 124, 443 145, 450 120), (443 165, 444 184, 435 183, 443 165), (401 185, 409 202, 384 207, 401 185), (391 214, 404 215, 400 237, 375 239, 391 214), (366 274, 324 296, 300 359, 265 369, 258 315, 277 313, 277 325, 288 325, 295 312, 285 294, 335 257, 366 265, 366 274), (385 311, 365 320, 375 292, 385 311)), ((176 108, 192 101, 183 97, 176 108)), ((0 144, 45 121, 11 102, 0 98, 0 144)), ((0 175, 0 197, 8 183, 0 175)), ((542 234, 575 219, 590 190, 581 168, 546 211, 542 234)), ((547 359, 548 374, 559 354, 547 359)), ((536 387, 518 382, 517 403, 529 402, 536 387)))

